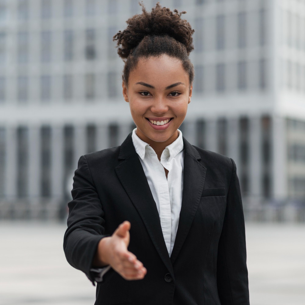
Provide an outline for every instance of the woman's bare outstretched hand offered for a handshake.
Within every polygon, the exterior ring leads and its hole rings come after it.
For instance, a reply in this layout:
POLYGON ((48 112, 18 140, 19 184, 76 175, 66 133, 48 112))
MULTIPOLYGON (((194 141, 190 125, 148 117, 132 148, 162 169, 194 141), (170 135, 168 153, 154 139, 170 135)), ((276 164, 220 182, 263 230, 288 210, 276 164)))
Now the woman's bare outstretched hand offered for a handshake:
POLYGON ((100 240, 93 264, 103 267, 110 265, 126 280, 140 280, 147 270, 137 257, 127 250, 130 240, 130 222, 124 221, 110 237, 100 240))

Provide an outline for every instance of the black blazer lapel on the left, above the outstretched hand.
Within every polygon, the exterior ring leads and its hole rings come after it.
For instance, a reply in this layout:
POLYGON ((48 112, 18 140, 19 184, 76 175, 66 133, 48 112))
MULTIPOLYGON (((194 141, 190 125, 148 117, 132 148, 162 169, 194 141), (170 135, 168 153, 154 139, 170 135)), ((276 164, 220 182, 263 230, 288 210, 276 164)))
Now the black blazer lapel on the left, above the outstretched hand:
POLYGON ((159 213, 142 164, 133 146, 131 134, 121 145, 119 160, 124 161, 115 168, 117 176, 138 210, 157 252, 174 279, 173 266, 163 238, 159 213))

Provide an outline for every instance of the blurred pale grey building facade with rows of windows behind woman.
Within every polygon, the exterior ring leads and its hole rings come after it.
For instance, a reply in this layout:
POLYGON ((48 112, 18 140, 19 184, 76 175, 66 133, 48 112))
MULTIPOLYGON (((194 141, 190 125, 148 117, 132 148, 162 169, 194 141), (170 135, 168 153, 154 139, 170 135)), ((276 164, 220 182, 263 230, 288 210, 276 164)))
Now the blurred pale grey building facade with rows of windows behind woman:
MULTIPOLYGON (((302 220, 305 1, 161 4, 195 28, 183 135, 235 160, 248 218, 302 220)), ((138 0, 0 0, 0 218, 63 217, 79 157, 135 127, 112 37, 136 13, 138 0)))

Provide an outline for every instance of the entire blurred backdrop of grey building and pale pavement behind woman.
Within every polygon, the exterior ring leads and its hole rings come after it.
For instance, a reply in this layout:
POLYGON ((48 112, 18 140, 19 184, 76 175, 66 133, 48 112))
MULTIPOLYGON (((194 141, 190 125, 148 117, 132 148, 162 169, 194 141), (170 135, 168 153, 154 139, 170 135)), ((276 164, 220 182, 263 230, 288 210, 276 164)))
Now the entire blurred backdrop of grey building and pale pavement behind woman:
MULTIPOLYGON (((305 1, 161 5, 195 29, 180 129, 237 165, 251 304, 305 304, 305 1)), ((1 305, 94 303, 64 222, 79 157, 135 127, 112 38, 136 13, 138 0, 0 0, 1 305)))

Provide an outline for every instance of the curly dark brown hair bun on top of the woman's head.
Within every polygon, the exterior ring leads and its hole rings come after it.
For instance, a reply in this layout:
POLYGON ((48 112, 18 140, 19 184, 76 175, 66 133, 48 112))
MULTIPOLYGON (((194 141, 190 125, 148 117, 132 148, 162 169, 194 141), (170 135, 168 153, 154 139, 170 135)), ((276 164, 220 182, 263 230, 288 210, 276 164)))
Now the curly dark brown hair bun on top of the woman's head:
POLYGON ((118 54, 126 59, 134 48, 148 35, 168 35, 185 45, 189 54, 193 49, 193 38, 195 30, 187 20, 181 19, 181 15, 186 12, 178 13, 175 9, 172 12, 169 8, 161 7, 159 2, 149 13, 143 3, 142 14, 137 14, 129 18, 126 23, 127 28, 119 31, 113 36, 113 41, 117 41, 118 54))

